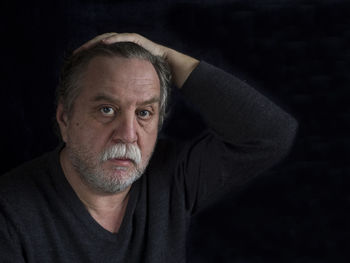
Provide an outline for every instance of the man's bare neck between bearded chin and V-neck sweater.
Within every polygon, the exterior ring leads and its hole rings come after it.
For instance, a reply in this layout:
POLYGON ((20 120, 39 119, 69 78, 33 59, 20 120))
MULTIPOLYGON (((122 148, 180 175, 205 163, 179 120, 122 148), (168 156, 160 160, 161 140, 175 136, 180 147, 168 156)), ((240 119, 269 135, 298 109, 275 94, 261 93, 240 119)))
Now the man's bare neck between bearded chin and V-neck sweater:
POLYGON ((67 181, 90 215, 106 230, 112 233, 118 232, 129 200, 130 187, 115 194, 95 191, 74 169, 65 148, 60 153, 60 163, 67 181))

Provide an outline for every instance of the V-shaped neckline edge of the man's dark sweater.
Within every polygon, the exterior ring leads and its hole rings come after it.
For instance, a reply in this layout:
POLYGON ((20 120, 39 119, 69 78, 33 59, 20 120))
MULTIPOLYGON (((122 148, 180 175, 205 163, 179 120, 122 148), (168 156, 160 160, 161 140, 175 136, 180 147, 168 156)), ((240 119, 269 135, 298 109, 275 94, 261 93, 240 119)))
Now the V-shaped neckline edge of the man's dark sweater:
POLYGON ((52 179, 57 187, 58 194, 67 204, 67 207, 70 209, 70 213, 74 214, 74 218, 79 221, 79 223, 84 226, 87 233, 99 238, 108 240, 111 242, 120 242, 120 240, 125 240, 125 235, 128 234, 132 228, 132 214, 136 207, 137 200, 137 189, 139 188, 140 180, 134 182, 130 188, 129 200, 125 210, 125 214, 122 220, 122 223, 119 227, 118 233, 111 233, 110 231, 103 228, 89 213, 83 202, 79 199, 78 195, 75 193, 72 186, 69 184, 66 179, 63 169, 60 164, 60 152, 63 149, 64 145, 60 145, 52 153, 51 156, 51 165, 53 168, 52 179))

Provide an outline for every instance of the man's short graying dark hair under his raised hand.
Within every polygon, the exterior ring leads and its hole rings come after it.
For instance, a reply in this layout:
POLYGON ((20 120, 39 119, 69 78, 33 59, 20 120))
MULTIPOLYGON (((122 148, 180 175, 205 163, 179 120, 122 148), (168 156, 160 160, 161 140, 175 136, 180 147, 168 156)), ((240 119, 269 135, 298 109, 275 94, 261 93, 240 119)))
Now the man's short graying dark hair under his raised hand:
POLYGON ((166 107, 170 93, 171 72, 169 65, 164 58, 155 56, 145 48, 132 42, 117 42, 108 45, 99 43, 68 57, 63 64, 56 90, 57 105, 62 103, 68 115, 71 114, 74 102, 81 90, 81 77, 88 63, 97 56, 137 58, 149 61, 153 65, 160 84, 159 128, 161 128, 166 117, 166 107))

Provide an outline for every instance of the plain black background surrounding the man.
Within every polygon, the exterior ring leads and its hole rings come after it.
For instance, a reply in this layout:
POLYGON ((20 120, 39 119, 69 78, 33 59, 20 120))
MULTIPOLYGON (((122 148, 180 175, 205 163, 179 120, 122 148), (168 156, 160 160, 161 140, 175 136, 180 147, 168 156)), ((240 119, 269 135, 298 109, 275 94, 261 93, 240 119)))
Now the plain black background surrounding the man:
MULTIPOLYGON (((299 121, 290 155, 196 216, 189 262, 350 262, 350 2, 13 1, 1 9, 1 173, 53 149, 63 55, 138 32, 245 79, 299 121)), ((163 133, 200 117, 175 92, 163 133)), ((20 193, 19 193, 20 194, 20 193)))

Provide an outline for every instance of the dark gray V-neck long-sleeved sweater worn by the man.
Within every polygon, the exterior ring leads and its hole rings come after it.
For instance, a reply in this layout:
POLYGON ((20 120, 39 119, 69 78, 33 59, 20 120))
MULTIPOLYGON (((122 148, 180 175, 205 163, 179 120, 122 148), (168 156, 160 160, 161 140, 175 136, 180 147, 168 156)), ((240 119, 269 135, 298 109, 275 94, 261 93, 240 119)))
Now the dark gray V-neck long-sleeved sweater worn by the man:
POLYGON ((60 148, 1 176, 0 262, 185 262, 191 216, 286 156, 297 122, 205 62, 183 93, 209 128, 181 145, 158 141, 118 234, 85 209, 62 172, 60 148))

